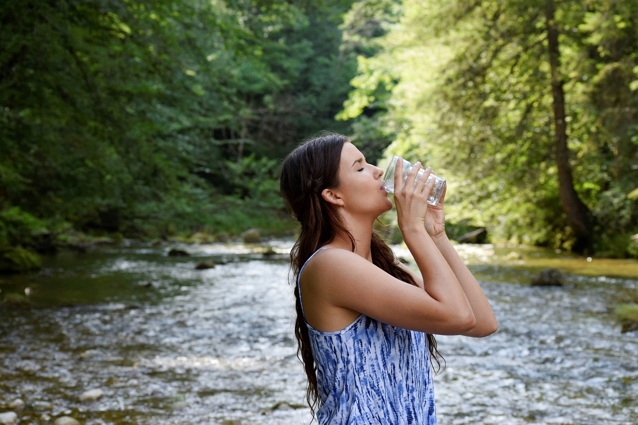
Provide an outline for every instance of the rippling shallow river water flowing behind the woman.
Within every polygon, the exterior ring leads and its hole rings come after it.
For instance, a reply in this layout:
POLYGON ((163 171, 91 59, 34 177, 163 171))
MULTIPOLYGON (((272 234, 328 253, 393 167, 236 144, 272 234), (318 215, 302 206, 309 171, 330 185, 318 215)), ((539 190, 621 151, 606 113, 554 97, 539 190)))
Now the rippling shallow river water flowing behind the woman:
MULTIPOLYGON (((19 424, 62 415, 86 424, 308 424, 292 338, 290 242, 119 246, 47 258, 0 277, 0 414, 19 424), (216 267, 196 270, 200 260, 216 267), (80 401, 100 389, 95 400, 80 401), (15 399, 23 406, 10 407, 15 399)), ((500 329, 440 336, 439 423, 636 424, 638 332, 611 309, 638 298, 638 262, 462 245, 500 329), (512 257, 510 251, 515 251, 512 257), (530 287, 542 267, 565 286, 530 287)), ((397 248, 397 253, 407 257, 397 248)))

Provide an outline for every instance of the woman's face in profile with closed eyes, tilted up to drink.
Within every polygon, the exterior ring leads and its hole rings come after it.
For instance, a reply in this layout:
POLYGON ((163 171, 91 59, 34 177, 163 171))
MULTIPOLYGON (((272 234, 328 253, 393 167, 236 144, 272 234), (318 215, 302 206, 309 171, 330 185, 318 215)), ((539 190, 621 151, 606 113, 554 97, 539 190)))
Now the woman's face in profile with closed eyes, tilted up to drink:
POLYGON ((392 201, 383 190, 382 176, 383 170, 368 164, 355 145, 343 144, 336 192, 340 194, 346 211, 354 215, 370 214, 376 218, 392 209, 392 201))

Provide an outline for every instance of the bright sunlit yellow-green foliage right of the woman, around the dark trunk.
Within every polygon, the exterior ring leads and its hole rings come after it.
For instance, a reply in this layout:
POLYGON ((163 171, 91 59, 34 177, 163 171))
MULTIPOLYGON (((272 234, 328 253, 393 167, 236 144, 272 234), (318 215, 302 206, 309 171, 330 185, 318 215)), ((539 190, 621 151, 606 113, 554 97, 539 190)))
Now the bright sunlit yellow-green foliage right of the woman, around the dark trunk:
MULTIPOLYGON (((364 1, 358 3, 365 3, 364 1)), ((554 151, 547 0, 403 2, 341 117, 392 129, 387 154, 447 177, 448 217, 493 241, 570 248, 554 151), (424 25, 424 22, 427 23, 424 25), (384 110, 366 115, 383 82, 384 110)), ((573 186, 595 214, 595 248, 629 255, 638 232, 635 2, 556 2, 573 186), (633 85, 633 86, 632 86, 633 85)), ((353 126, 354 128, 354 126, 353 126)))

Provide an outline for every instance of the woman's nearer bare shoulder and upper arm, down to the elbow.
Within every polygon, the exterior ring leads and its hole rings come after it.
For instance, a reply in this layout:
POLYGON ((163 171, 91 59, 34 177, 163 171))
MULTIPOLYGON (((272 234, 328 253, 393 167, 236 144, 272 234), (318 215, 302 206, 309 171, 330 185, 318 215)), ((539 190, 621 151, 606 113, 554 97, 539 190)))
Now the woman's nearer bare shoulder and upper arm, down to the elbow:
POLYGON ((456 305, 433 299, 423 288, 408 285, 352 251, 321 250, 306 266, 300 289, 306 319, 315 329, 343 329, 364 314, 421 332, 467 331, 466 323, 459 322, 456 305))

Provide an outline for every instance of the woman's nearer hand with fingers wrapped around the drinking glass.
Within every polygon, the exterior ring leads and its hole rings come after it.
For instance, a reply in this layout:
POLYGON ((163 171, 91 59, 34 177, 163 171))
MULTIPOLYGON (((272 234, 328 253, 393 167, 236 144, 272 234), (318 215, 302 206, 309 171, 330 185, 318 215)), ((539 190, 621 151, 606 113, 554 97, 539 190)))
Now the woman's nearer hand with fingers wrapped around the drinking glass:
POLYGON ((427 213, 427 197, 434 187, 434 179, 428 184, 419 184, 427 181, 427 177, 432 172, 427 167, 425 174, 417 179, 417 173, 421 168, 421 163, 417 162, 408 173, 403 182, 403 158, 397 160, 394 170, 394 204, 397 209, 397 221, 401 232, 410 231, 413 228, 424 228, 427 213))

